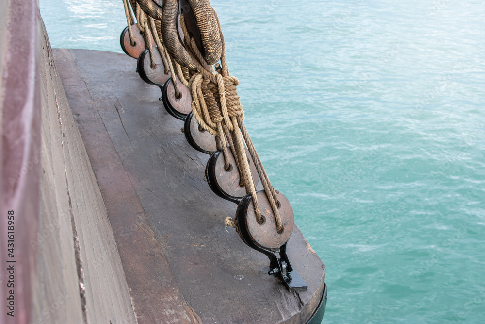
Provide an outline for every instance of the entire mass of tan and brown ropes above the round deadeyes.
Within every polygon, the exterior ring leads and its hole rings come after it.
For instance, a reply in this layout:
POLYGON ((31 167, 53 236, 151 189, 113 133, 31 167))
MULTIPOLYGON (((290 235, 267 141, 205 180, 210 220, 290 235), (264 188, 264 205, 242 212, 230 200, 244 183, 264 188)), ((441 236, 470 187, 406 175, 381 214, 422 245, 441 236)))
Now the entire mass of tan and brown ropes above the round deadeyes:
MULTIPOLYGON (((127 22, 133 21, 127 0, 123 0, 123 3, 125 5, 127 22)), ((230 168, 228 148, 231 150, 240 175, 239 185, 245 188, 246 193, 251 194, 256 220, 261 223, 262 217, 256 185, 249 166, 249 159, 244 149, 244 143, 246 144, 275 215, 277 232, 281 233, 283 226, 278 212, 277 192, 271 185, 254 144, 244 126, 244 111, 237 92, 239 80, 229 75, 226 45, 217 13, 210 7, 208 1, 203 0, 200 3, 190 1, 201 34, 202 48, 205 52, 203 55, 194 37, 189 34, 183 15, 180 15, 179 18, 185 46, 178 41, 177 24, 175 26, 173 24, 173 20, 176 20, 178 15, 176 0, 166 0, 164 2, 163 18, 161 8, 158 6, 154 7, 152 0, 136 0, 136 2, 135 0, 130 0, 130 3, 135 9, 133 11, 136 15, 138 27, 143 33, 145 46, 150 53, 151 67, 155 68, 150 34, 153 36, 153 40, 162 57, 165 73, 169 70, 172 75, 176 97, 180 97, 180 91, 175 76, 190 90, 193 99, 192 113, 199 123, 200 129, 216 136, 216 145, 218 149, 222 149, 226 170, 230 168), (162 35, 166 36, 166 39, 162 35), (168 43, 165 43, 165 40, 168 43), (217 64, 216 69, 214 69, 213 64, 219 59, 221 64, 217 64)), ((130 26, 130 24, 128 25, 130 26)), ((133 44, 131 28, 129 28, 129 34, 133 44)), ((227 226, 235 227, 234 221, 230 217, 227 217, 224 223, 226 230, 227 226)))

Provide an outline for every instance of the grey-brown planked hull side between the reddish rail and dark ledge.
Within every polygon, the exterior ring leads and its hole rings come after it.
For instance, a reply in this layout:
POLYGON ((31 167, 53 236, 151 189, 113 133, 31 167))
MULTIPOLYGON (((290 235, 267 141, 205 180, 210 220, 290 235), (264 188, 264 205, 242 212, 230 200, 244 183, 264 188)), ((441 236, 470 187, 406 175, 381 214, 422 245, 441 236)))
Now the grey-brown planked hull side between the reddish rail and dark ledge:
POLYGON ((136 323, 106 207, 38 28, 42 91, 38 305, 33 323, 136 323))

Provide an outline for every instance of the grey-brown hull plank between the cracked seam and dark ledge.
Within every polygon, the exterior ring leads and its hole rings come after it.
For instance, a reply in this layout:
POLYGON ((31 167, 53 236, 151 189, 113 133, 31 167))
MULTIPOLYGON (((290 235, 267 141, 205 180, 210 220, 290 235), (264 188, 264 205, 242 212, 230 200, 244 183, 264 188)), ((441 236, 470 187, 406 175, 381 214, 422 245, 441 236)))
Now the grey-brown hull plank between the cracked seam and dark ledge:
MULTIPOLYGON (((52 77, 47 95, 50 102, 43 106, 49 110, 43 121, 50 121, 51 147, 46 153, 53 155, 58 212, 70 229, 70 235, 65 233, 64 240, 60 238, 61 244, 70 247, 63 249, 63 258, 71 263, 69 266, 76 266, 76 273, 69 271, 65 275, 66 285, 75 282, 77 286, 69 296, 81 296, 79 310, 87 323, 136 323, 106 207, 54 66, 49 41, 43 38, 46 74, 52 77)), ((79 323, 71 316, 67 309, 67 322, 79 323)))

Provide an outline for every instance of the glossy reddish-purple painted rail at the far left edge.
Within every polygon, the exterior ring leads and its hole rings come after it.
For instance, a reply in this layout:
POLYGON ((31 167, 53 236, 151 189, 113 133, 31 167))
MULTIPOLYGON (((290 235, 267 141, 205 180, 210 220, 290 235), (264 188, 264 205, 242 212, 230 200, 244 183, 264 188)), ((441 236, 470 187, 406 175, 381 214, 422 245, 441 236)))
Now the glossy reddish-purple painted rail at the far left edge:
POLYGON ((2 27, 6 26, 2 33, 6 33, 7 40, 0 53, 3 64, 0 89, 0 323, 23 324, 31 321, 32 278, 36 271, 36 250, 29 242, 36 239, 39 228, 41 101, 37 26, 40 14, 36 0, 10 0, 5 8, 9 10, 0 13, 2 27), (8 211, 13 211, 10 212, 14 216, 13 224, 8 224, 12 221, 12 217, 8 220, 8 211), (14 230, 9 231, 12 228, 14 230), (8 240, 12 238, 8 232, 14 232, 12 254, 7 248, 8 240), (13 271, 6 271, 12 266, 13 271), (14 285, 8 287, 12 272, 14 280, 11 283, 14 285), (11 315, 15 317, 8 315, 10 309, 6 308, 11 290, 14 292, 11 315))

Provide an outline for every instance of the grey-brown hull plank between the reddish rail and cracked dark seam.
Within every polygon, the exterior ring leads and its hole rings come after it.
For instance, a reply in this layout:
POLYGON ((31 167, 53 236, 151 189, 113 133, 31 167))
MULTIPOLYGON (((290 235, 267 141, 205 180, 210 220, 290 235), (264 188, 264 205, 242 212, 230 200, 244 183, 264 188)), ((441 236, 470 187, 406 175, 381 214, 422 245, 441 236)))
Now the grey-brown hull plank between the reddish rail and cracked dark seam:
MULTIPOLYGON (((33 323, 82 323, 78 268, 67 194, 60 111, 69 106, 55 78, 45 26, 39 24, 41 87, 40 228, 30 242, 37 249, 33 323)), ((67 136, 70 136, 69 134, 67 136)))

